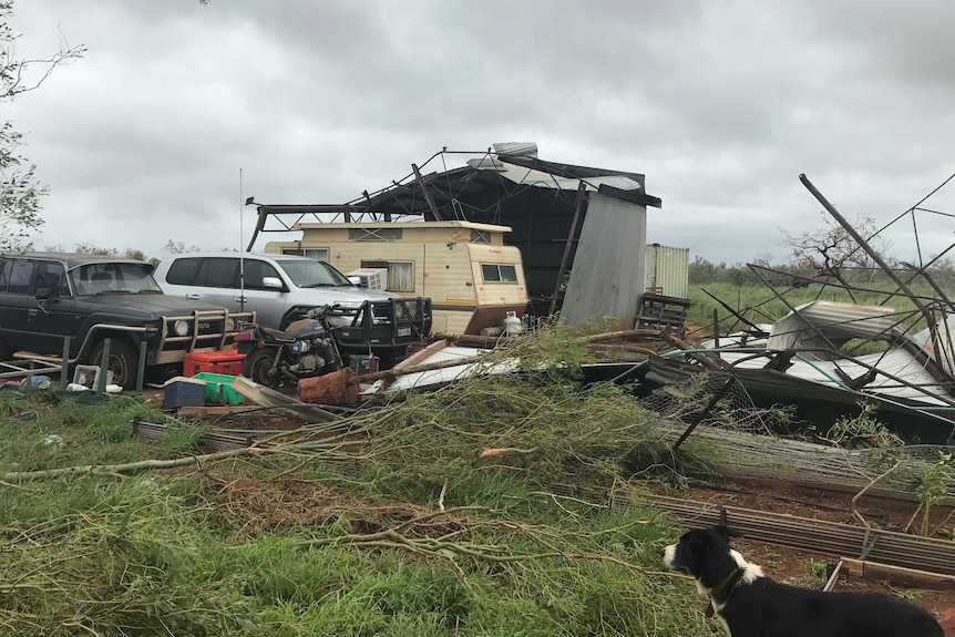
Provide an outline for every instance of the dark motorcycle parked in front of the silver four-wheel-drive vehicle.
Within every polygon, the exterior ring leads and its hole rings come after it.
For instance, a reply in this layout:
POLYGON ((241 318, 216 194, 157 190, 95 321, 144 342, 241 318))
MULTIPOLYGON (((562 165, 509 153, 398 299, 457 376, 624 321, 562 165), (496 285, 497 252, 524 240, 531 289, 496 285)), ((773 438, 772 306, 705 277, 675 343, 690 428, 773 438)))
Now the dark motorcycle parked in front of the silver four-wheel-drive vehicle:
POLYGON ((235 343, 245 355, 243 376, 275 389, 286 381, 341 369, 343 361, 328 322, 330 311, 328 306, 312 308, 285 330, 242 323, 235 343))

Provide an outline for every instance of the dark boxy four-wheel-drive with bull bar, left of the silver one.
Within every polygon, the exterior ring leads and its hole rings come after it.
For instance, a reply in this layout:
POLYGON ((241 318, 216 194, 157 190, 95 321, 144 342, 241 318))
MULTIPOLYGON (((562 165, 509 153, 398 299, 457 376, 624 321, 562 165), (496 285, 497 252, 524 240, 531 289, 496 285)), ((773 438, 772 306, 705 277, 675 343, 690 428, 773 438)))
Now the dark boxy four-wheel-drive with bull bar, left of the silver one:
POLYGON ((135 386, 142 343, 148 367, 181 362, 193 350, 220 349, 239 321, 214 305, 166 296, 153 266, 99 255, 0 255, 0 360, 60 360, 99 364, 110 339, 113 382, 135 386))

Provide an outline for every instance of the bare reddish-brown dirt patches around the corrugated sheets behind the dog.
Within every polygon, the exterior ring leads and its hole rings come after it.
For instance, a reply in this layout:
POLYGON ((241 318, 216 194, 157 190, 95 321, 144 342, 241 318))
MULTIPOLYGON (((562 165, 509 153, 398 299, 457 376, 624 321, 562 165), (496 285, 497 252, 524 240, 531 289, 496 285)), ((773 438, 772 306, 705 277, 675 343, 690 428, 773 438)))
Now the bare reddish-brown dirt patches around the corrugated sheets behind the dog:
MULTIPOLYGON (((688 493, 681 494, 681 497, 684 496, 695 502, 719 503, 842 524, 859 524, 851 512, 852 494, 831 493, 792 484, 759 481, 696 485, 690 487, 688 493)), ((882 528, 896 532, 904 531, 915 507, 915 504, 874 499, 863 500, 860 504, 860 511, 866 515, 866 518, 877 520, 882 528)), ((932 527, 955 527, 955 511, 952 508, 935 511, 932 527)), ((839 556, 764 544, 746 537, 733 541, 733 545, 749 562, 759 564, 768 576, 797 586, 821 587, 825 576, 819 575, 819 566, 821 564, 834 566, 839 559, 839 556), (815 568, 812 568, 813 566, 815 568)), ((904 597, 933 612, 945 628, 945 635, 955 637, 955 588, 902 588, 884 581, 841 575, 834 589, 875 590, 904 597)))

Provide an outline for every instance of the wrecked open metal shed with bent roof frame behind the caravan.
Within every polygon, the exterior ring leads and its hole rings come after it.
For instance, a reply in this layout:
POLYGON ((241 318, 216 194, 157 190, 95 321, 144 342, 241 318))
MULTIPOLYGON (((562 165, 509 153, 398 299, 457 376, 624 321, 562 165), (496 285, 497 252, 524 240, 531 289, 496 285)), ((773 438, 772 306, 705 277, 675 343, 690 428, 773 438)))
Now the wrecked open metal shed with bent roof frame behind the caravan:
POLYGON ((563 302, 563 316, 616 317, 633 327, 646 288, 645 175, 548 162, 536 144, 495 144, 486 152, 443 148, 411 165, 401 181, 345 204, 256 204, 260 233, 288 232, 309 222, 462 220, 507 226, 520 248, 535 314, 563 302), (449 160, 470 156, 446 168, 449 160), (424 173, 431 164, 442 169, 424 173))

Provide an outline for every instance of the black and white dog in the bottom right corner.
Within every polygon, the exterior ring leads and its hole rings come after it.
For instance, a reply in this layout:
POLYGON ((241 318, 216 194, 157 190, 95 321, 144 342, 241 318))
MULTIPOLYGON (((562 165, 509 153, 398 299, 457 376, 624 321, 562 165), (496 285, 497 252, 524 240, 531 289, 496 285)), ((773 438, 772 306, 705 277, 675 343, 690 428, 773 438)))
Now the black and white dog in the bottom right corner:
POLYGON ((730 547, 727 526, 690 531, 664 564, 697 581, 732 637, 943 637, 931 613, 877 593, 823 593, 773 582, 730 547))

